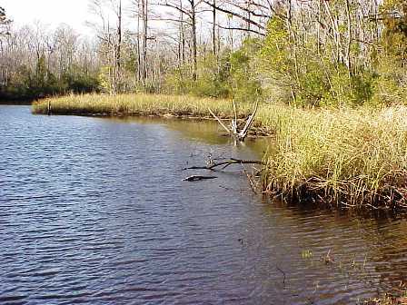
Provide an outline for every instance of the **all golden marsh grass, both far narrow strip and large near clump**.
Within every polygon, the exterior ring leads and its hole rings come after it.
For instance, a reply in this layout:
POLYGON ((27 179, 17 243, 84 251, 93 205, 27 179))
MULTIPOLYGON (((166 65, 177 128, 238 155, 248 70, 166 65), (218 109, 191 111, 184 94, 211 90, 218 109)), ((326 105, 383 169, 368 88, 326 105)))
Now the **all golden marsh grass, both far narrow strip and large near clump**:
MULTIPOLYGON (((34 113, 233 115, 225 100, 169 95, 83 95, 37 102, 34 113)), ((253 105, 240 104, 239 116, 253 105)), ((407 207, 407 108, 303 110, 262 104, 255 125, 272 130, 263 191, 346 208, 407 207)))

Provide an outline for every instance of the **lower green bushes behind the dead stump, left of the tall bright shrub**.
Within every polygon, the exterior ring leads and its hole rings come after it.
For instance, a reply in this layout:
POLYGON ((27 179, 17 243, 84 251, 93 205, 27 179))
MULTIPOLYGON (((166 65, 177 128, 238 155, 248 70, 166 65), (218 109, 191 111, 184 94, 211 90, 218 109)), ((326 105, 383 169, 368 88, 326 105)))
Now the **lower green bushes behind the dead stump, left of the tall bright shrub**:
POLYGON ((247 39, 233 53, 205 54, 198 62, 196 82, 191 77, 191 65, 183 64, 166 76, 165 92, 253 102, 263 93, 254 65, 260 46, 259 39, 247 39))

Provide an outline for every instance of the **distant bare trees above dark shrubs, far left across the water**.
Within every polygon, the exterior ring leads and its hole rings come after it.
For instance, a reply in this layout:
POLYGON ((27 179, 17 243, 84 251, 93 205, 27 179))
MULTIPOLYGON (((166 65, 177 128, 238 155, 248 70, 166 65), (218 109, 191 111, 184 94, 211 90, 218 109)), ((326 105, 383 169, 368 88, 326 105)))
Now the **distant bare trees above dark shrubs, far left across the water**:
POLYGON ((49 94, 98 91, 94 46, 67 25, 13 27, 0 37, 0 97, 30 99, 49 94))

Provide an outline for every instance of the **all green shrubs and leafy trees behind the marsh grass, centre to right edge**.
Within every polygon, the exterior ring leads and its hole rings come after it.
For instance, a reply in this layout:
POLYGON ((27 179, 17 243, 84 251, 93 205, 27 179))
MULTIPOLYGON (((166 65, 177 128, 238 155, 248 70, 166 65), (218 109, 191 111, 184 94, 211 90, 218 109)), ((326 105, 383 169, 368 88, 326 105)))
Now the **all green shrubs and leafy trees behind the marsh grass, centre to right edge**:
MULTIPOLYGON (((361 44, 355 37, 348 44, 345 5, 340 0, 329 3, 331 13, 343 21, 333 29, 338 31, 338 42, 334 33, 317 36, 307 30, 306 23, 288 22, 281 17, 288 14, 286 6, 277 5, 264 39, 246 39, 239 49, 217 59, 204 54, 196 82, 191 78, 191 66, 178 67, 166 78, 167 92, 231 97, 244 102, 264 98, 304 107, 405 103, 407 0, 383 2, 384 27, 374 44, 361 44), (366 55, 369 58, 362 58, 366 55)), ((358 7, 351 2, 352 28, 358 25, 358 7)), ((293 15, 295 18, 299 16, 293 15)), ((369 30, 361 32, 379 31, 380 25, 375 22, 363 25, 369 30)))

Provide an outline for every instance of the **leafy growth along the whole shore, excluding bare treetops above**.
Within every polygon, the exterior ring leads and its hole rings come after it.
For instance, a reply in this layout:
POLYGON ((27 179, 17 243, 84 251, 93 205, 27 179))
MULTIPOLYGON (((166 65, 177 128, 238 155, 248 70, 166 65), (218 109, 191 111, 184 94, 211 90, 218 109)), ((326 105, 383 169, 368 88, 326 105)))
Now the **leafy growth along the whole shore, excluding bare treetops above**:
MULTIPOLYGON (((22 67, 26 71, 5 80, 0 93, 173 93, 247 103, 264 99, 303 107, 406 103, 407 0, 383 0, 381 19, 366 17, 363 22, 358 19, 361 5, 351 1, 348 15, 345 1, 325 2, 319 16, 321 26, 315 28, 316 15, 303 14, 302 6, 293 5, 287 11, 288 5, 277 4, 265 37, 246 38, 240 48, 223 49, 216 56, 200 45, 196 80, 191 56, 185 54, 181 64, 171 63, 172 55, 159 54, 149 56, 147 80, 136 81, 136 44, 126 34, 119 69, 110 66, 112 58, 106 55, 109 48, 104 44, 99 45, 103 64, 90 74, 86 67, 76 66, 57 73, 42 55, 36 64, 27 64, 35 65, 32 71, 22 67), (336 25, 331 19, 338 21, 336 25)), ((315 13, 316 7, 310 5, 306 10, 315 13)), ((0 23, 5 21, 0 7, 0 23)))

